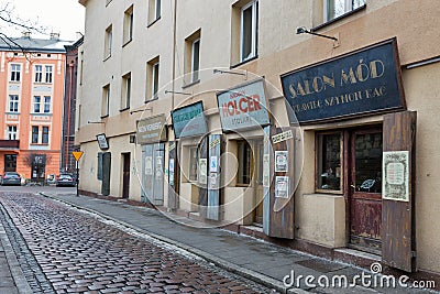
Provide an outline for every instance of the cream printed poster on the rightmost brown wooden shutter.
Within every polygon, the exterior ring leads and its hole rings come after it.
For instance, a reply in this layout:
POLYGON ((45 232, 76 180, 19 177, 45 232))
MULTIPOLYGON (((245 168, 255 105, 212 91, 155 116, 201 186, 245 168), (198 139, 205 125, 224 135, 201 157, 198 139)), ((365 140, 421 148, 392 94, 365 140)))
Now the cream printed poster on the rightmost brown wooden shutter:
POLYGON ((382 198, 409 202, 409 151, 383 154, 382 198))

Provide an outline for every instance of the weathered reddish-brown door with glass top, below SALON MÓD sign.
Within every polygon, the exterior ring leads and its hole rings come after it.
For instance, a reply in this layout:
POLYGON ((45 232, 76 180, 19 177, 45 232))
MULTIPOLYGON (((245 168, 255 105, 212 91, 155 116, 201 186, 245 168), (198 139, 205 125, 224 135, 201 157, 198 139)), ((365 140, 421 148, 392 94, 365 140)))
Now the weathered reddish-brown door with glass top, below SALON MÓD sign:
POLYGON ((382 129, 351 132, 350 246, 378 253, 382 227, 382 129))

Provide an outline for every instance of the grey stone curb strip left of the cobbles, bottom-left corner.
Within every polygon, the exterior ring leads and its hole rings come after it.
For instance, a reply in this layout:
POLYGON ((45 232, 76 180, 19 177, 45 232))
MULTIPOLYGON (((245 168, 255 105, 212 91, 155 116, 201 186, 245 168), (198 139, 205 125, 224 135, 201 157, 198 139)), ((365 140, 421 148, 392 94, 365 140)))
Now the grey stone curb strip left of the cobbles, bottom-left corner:
MULTIPOLYGON (((8 211, 0 204, 0 213, 9 216, 8 211)), ((9 270, 11 271, 12 279, 14 280, 16 290, 20 294, 32 294, 32 288, 24 276, 23 271, 20 268, 20 263, 16 260, 15 252, 12 249, 11 242, 9 241, 8 235, 6 233, 3 224, 0 221, 0 240, 3 246, 4 255, 7 257, 9 270)))

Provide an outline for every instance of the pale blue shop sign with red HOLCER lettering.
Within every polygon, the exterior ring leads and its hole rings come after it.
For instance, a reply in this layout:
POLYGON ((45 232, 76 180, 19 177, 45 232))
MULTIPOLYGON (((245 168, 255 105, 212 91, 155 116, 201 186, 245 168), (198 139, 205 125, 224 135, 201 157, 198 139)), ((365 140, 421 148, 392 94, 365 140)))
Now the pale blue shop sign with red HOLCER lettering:
POLYGON ((218 92, 217 102, 224 132, 270 124, 263 79, 218 92))

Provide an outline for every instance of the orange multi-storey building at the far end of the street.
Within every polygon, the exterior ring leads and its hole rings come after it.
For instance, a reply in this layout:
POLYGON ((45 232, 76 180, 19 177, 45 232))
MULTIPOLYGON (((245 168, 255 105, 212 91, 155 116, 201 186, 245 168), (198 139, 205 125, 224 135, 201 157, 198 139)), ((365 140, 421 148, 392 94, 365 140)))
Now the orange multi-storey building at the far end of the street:
POLYGON ((59 173, 68 44, 56 34, 0 40, 0 174, 41 182, 59 173))

